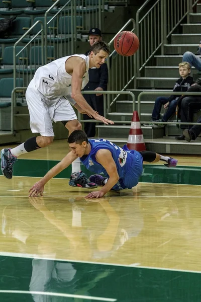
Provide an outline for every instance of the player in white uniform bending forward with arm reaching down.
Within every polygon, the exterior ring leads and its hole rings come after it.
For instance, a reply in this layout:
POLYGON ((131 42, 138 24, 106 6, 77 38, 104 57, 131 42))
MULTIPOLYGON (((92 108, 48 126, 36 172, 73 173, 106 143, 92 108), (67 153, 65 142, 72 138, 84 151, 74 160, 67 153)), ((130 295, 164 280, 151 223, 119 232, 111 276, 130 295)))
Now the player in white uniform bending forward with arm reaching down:
MULTIPOLYGON (((70 55, 50 62, 36 70, 33 80, 26 91, 26 100, 30 114, 30 127, 33 133, 40 133, 37 137, 31 137, 15 148, 2 149, 1 169, 6 178, 13 176, 13 165, 17 158, 27 152, 45 147, 52 143, 54 132, 52 121, 61 121, 68 129, 69 134, 81 129, 76 114, 71 104, 81 113, 105 124, 114 124, 113 121, 99 115, 85 101, 81 89, 88 82, 88 69, 99 68, 109 56, 108 44, 98 41, 91 47, 88 56, 70 55)), ((69 182, 74 185, 74 179, 81 176, 79 187, 96 187, 89 182, 80 171, 80 160, 72 163, 72 176, 69 182)))

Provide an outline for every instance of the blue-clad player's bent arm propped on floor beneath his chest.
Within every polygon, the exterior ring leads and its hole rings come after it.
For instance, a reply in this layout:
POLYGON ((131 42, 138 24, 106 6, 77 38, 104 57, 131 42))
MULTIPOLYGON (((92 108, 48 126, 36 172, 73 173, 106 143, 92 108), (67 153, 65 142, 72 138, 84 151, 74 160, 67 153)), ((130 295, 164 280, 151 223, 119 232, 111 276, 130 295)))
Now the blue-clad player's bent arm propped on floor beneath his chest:
POLYGON ((109 150, 107 150, 107 149, 98 150, 95 158, 96 158, 96 161, 106 169, 106 171, 109 175, 109 179, 108 179, 108 182, 105 184, 105 186, 103 186, 99 191, 89 193, 86 196, 86 198, 103 197, 106 193, 108 193, 114 187, 114 185, 116 185, 116 183, 119 180, 117 166, 116 166, 115 161, 112 157, 112 154, 109 150))

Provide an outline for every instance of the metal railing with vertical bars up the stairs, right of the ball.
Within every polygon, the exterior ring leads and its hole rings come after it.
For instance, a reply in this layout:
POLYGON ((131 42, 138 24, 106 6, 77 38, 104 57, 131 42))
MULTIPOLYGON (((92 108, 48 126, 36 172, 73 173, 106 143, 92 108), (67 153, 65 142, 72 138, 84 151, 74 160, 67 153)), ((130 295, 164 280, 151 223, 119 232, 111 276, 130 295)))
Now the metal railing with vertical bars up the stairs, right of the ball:
POLYGON ((161 48, 161 54, 164 54, 164 45, 167 44, 167 38, 185 16, 187 16, 189 22, 189 13, 199 0, 182 1, 181 8, 178 8, 179 0, 175 2, 172 2, 172 0, 171 2, 170 0, 157 0, 140 19, 140 13, 150 1, 145 1, 136 13, 136 33, 141 44, 140 51, 137 51, 136 54, 138 77, 140 77, 140 71, 147 65, 156 51, 161 48), (150 31, 154 32, 154 35, 151 34, 150 36, 150 31))

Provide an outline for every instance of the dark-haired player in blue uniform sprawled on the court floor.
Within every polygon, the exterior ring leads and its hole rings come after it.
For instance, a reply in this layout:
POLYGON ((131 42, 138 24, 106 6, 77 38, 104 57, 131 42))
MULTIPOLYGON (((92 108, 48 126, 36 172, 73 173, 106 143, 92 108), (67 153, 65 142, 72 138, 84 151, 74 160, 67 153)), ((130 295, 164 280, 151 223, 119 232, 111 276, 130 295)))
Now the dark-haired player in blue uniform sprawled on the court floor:
MULTIPOLYGON (((39 193, 42 196, 45 184, 67 168, 77 157, 80 157, 86 169, 97 173, 90 176, 90 182, 102 186, 99 191, 89 193, 86 198, 103 197, 111 189, 119 191, 135 187, 142 174, 143 161, 150 163, 163 161, 167 167, 176 167, 178 162, 154 152, 129 150, 126 145, 121 148, 103 138, 88 140, 82 130, 73 131, 68 137, 68 143, 71 151, 29 190, 29 196, 36 197, 39 193), (104 173, 105 177, 99 173, 104 173)), ((74 182, 71 185, 76 186, 74 182)))

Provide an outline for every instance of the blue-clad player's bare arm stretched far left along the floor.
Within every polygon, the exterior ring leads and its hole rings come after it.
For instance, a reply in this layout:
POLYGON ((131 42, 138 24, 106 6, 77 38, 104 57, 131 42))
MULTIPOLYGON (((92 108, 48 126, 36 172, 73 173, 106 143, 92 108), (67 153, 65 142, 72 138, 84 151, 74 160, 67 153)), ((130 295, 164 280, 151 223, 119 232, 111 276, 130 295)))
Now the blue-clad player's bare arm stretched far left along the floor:
POLYGON ((54 176, 59 174, 61 171, 66 169, 72 162, 77 158, 76 155, 73 155, 72 152, 69 152, 61 162, 59 162, 56 166, 54 166, 48 173, 45 174, 41 180, 33 185, 31 189, 29 189, 29 197, 37 197, 40 193, 43 196, 44 186, 45 184, 54 176))

